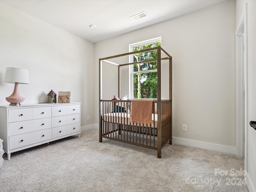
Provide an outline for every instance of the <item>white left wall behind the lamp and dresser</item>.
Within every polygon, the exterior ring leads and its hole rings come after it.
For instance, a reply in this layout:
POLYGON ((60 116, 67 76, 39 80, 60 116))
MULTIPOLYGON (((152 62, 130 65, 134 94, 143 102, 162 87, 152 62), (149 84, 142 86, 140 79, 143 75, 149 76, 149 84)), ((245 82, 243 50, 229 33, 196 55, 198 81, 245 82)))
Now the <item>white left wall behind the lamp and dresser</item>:
POLYGON ((50 90, 71 91, 82 102, 81 125, 94 120, 94 44, 0 3, 0 104, 8 105, 14 84, 6 67, 28 69, 30 84, 19 86, 22 104, 47 103, 50 90), (84 118, 91 115, 91 120, 84 118))

